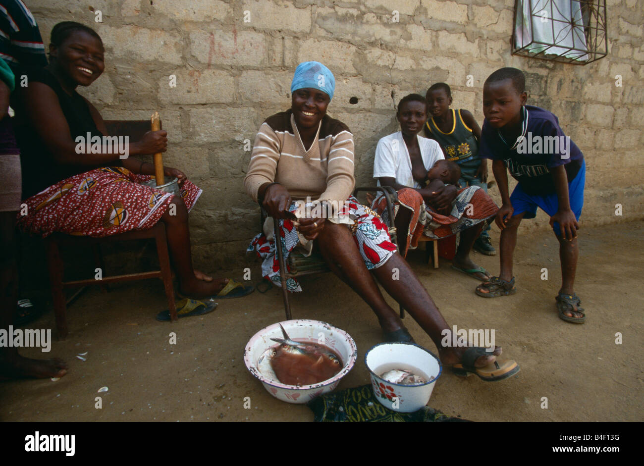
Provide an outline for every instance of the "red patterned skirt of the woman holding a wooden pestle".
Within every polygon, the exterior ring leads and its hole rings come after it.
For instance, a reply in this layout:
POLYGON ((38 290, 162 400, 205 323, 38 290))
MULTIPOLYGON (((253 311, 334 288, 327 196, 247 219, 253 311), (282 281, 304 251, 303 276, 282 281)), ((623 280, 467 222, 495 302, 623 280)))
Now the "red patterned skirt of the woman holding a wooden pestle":
MULTIPOLYGON (((18 226, 32 234, 61 232, 77 236, 111 236, 152 228, 169 208, 173 194, 140 183, 152 176, 123 167, 77 174, 24 201, 18 226), (26 215, 25 215, 26 213, 26 215)), ((186 180, 180 196, 188 210, 202 190, 186 180)))

